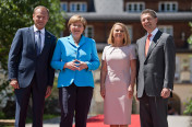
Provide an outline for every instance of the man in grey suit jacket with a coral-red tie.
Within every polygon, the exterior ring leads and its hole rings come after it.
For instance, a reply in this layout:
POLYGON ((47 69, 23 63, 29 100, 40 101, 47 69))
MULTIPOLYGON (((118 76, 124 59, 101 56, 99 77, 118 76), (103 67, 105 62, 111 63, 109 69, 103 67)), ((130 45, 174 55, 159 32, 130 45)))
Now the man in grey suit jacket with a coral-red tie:
POLYGON ((173 89, 175 43, 157 28, 157 15, 146 9, 141 14, 147 35, 136 42, 137 99, 141 127, 168 127, 168 97, 173 89))

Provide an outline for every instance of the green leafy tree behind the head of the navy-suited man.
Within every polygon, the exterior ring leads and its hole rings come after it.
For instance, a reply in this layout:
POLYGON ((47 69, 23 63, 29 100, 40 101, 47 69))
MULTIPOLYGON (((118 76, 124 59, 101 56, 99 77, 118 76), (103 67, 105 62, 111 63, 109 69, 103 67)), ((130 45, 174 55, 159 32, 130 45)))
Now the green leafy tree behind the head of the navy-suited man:
POLYGON ((33 10, 37 5, 49 9, 49 22, 46 28, 57 37, 64 28, 60 0, 0 0, 0 62, 7 70, 8 54, 15 32, 33 25, 33 10))

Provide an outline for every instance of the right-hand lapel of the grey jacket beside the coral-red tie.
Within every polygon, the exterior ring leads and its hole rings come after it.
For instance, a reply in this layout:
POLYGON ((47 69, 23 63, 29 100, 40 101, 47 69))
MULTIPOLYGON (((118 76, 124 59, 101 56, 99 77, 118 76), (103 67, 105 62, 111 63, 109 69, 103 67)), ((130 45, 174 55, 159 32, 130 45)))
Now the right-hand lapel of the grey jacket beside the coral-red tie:
POLYGON ((160 38, 160 36, 161 36, 161 32, 160 31, 158 31, 157 33, 156 33, 156 35, 154 36, 154 39, 152 41, 152 44, 151 44, 151 46, 149 46, 149 48, 148 48, 148 53, 147 53, 147 56, 146 56, 146 59, 149 57, 149 55, 152 54, 152 50, 156 47, 156 45, 159 43, 159 38, 160 38))

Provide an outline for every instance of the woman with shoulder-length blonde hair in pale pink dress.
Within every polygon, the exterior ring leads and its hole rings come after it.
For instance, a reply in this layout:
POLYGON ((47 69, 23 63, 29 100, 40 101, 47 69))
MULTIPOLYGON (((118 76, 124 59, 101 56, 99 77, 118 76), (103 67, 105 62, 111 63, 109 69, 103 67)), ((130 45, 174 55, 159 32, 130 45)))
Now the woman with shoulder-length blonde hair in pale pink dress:
POLYGON ((124 24, 112 26, 108 44, 103 51, 100 71, 104 123, 110 127, 128 127, 131 124, 136 60, 124 24))

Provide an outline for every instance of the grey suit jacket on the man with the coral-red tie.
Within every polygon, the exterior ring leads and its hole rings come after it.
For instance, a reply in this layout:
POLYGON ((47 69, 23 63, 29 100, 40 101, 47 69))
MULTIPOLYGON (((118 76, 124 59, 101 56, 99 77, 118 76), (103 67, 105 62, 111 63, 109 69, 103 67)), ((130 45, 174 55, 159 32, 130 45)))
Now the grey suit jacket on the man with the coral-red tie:
POLYGON ((172 37, 158 31, 145 56, 146 37, 136 42, 137 97, 142 97, 144 90, 148 96, 160 96, 163 88, 173 89, 176 53, 172 37))

